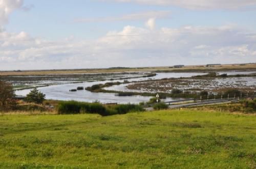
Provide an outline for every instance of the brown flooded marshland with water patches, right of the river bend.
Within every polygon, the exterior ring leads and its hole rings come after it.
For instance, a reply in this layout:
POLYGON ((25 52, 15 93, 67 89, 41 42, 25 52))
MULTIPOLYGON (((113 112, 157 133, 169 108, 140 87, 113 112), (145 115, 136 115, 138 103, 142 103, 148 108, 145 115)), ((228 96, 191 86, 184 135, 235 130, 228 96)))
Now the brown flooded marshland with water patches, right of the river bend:
MULTIPOLYGON (((132 82, 129 84, 121 84, 105 88, 105 90, 122 91, 122 92, 147 92, 147 93, 171 93, 173 89, 179 89, 187 92, 200 92, 203 90, 211 92, 220 92, 225 89, 236 88, 242 91, 256 90, 256 76, 255 71, 229 71, 217 72, 217 74, 226 74, 227 76, 238 75, 238 77, 215 77, 215 78, 195 78, 190 76, 180 76, 183 78, 175 77, 169 78, 161 74, 160 80, 147 80, 132 82), (239 77, 239 76, 245 77, 239 77), (250 77, 250 75, 252 77, 250 77), (248 77, 246 77, 248 76, 248 77)), ((177 74, 176 74, 177 75, 177 74)), ((180 74, 179 74, 180 75, 180 74)))

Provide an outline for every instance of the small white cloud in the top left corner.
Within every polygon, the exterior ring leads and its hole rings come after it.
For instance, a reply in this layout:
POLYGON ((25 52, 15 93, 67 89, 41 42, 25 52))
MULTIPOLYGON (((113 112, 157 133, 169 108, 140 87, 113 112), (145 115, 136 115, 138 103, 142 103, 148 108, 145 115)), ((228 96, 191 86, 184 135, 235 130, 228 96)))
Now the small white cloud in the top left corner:
POLYGON ((0 0, 0 25, 8 22, 8 17, 15 9, 21 8, 23 0, 0 0))

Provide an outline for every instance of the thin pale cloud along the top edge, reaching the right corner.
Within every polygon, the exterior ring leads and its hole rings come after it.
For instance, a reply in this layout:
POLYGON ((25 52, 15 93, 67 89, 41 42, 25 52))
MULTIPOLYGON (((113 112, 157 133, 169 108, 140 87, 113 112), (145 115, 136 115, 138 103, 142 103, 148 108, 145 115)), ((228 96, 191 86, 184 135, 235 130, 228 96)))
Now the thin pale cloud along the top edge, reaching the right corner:
POLYGON ((178 6, 187 9, 244 9, 256 5, 255 0, 103 0, 145 5, 178 6))

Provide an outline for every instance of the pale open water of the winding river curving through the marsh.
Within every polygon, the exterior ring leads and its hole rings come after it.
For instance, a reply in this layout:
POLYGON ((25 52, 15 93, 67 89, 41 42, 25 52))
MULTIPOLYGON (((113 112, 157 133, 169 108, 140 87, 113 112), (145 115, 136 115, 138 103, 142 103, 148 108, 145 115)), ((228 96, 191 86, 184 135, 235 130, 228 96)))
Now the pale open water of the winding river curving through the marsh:
MULTIPOLYGON (((204 73, 157 73, 154 77, 139 77, 127 79, 128 81, 142 81, 148 79, 162 79, 171 77, 190 77, 195 75, 201 75, 204 73)), ((95 84, 106 83, 106 82, 123 82, 124 80, 105 80, 105 81, 94 81, 94 82, 83 82, 83 83, 69 83, 62 85, 53 85, 49 87, 38 88, 42 93, 46 94, 46 99, 54 100, 76 100, 76 101, 100 101, 101 103, 114 102, 114 103, 139 103, 150 100, 151 97, 145 96, 115 96, 115 93, 92 93, 86 90, 69 92, 70 89, 76 89, 79 86, 84 88, 91 87, 95 84)), ((16 95, 26 96, 30 92, 28 90, 16 91, 16 95)), ((163 101, 173 101, 177 98, 167 98, 163 101)))

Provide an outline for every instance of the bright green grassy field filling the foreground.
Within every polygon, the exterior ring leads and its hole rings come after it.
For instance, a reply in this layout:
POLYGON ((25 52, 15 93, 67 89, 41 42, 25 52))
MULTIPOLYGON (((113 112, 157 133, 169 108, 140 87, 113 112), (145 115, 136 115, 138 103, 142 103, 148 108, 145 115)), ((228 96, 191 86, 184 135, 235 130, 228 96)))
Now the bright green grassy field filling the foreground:
POLYGON ((0 116, 0 168, 255 168, 256 116, 0 116))

